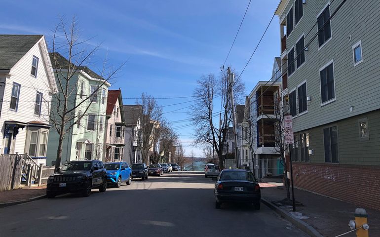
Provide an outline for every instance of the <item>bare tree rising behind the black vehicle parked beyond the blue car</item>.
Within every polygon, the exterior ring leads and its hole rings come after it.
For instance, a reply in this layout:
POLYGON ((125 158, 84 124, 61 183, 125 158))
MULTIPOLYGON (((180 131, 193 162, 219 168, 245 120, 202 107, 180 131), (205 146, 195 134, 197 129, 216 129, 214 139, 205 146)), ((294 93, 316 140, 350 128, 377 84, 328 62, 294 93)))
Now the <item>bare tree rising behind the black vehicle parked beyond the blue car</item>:
POLYGON ((136 105, 142 107, 141 110, 141 134, 137 139, 137 149, 141 153, 142 162, 148 162, 150 154, 153 152, 153 145, 160 136, 160 122, 162 120, 162 107, 158 105, 156 99, 145 93, 136 100, 136 105))

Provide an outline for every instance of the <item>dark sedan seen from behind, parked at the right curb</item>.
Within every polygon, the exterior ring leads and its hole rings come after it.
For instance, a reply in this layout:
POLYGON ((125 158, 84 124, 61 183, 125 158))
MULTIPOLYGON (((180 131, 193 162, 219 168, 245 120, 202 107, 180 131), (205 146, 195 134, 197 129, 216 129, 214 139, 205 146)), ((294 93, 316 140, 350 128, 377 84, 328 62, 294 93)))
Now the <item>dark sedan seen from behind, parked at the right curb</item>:
POLYGON ((255 175, 249 170, 224 169, 215 183, 215 208, 224 202, 245 202, 260 210, 261 192, 255 175))

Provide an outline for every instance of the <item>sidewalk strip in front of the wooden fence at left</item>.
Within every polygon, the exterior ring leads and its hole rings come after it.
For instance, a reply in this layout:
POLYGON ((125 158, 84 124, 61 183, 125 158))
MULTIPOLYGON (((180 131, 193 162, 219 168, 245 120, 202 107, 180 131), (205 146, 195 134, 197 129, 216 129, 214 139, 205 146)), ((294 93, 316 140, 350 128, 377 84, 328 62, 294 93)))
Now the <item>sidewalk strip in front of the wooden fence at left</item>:
POLYGON ((46 186, 21 188, 9 191, 0 192, 0 207, 12 205, 12 202, 18 204, 19 202, 29 201, 33 198, 44 196, 46 194, 46 186))

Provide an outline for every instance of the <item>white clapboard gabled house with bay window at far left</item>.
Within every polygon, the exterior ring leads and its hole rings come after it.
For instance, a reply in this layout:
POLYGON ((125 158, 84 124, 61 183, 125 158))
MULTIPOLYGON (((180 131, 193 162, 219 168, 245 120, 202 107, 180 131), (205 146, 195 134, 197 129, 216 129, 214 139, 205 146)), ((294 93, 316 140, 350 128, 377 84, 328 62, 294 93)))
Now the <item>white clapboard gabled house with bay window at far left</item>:
POLYGON ((56 84, 42 35, 0 35, 0 154, 46 159, 56 84))

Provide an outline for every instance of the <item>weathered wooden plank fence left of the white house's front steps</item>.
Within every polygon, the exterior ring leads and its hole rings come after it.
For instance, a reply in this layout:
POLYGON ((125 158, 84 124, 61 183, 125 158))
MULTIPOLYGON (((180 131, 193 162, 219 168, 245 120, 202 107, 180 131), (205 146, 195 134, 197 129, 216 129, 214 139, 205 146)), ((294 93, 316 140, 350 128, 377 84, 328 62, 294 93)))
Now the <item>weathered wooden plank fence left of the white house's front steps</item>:
POLYGON ((0 191, 20 187, 22 161, 17 154, 0 155, 0 191))

